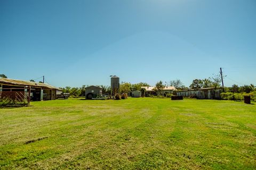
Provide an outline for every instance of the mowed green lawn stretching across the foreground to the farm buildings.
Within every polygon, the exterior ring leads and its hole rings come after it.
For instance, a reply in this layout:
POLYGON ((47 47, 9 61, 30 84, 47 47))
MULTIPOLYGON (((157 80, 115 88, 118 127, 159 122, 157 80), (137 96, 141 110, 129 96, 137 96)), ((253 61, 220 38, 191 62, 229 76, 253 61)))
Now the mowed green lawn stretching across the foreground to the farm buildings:
POLYGON ((0 169, 256 169, 254 104, 59 99, 0 109, 0 169))

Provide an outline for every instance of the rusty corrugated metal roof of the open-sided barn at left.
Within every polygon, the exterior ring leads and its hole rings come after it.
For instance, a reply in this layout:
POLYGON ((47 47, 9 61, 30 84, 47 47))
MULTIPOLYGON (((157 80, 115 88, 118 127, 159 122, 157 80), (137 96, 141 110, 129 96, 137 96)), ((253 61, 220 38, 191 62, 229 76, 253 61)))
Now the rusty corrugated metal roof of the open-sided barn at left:
POLYGON ((46 84, 46 83, 15 80, 15 79, 6 79, 6 78, 0 78, 0 83, 1 84, 10 84, 10 85, 15 85, 15 86, 30 86, 30 87, 38 87, 38 88, 45 88, 45 89, 59 89, 57 87, 51 86, 50 84, 46 84))

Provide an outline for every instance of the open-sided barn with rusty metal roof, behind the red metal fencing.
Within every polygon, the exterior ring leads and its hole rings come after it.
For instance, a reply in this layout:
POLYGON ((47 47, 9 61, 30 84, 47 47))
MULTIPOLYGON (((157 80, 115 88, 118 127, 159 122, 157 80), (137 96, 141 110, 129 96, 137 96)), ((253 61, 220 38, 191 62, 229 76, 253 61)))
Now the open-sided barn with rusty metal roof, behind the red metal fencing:
POLYGON ((61 90, 46 83, 0 78, 0 91, 2 93, 5 91, 27 92, 28 89, 30 89, 30 98, 33 101, 54 100, 56 99, 56 91, 61 90))

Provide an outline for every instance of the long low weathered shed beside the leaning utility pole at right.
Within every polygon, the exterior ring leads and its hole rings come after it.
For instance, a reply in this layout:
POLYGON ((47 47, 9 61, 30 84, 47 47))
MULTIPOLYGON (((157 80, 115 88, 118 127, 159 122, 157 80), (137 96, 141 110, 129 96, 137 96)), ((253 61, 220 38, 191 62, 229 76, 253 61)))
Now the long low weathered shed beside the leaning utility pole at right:
POLYGON ((197 99, 221 99, 220 94, 222 89, 220 88, 202 88, 202 89, 189 89, 177 91, 177 96, 190 97, 193 96, 197 99))

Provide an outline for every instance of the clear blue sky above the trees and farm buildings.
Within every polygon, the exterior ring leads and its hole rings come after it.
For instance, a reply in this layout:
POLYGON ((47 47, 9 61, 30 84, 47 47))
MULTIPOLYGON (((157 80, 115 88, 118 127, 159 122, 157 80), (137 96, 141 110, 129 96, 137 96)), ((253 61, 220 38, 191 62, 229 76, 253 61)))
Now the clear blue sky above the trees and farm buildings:
POLYGON ((256 84, 256 1, 0 0, 0 74, 57 87, 256 84), (37 81, 40 81, 39 79, 37 81))

